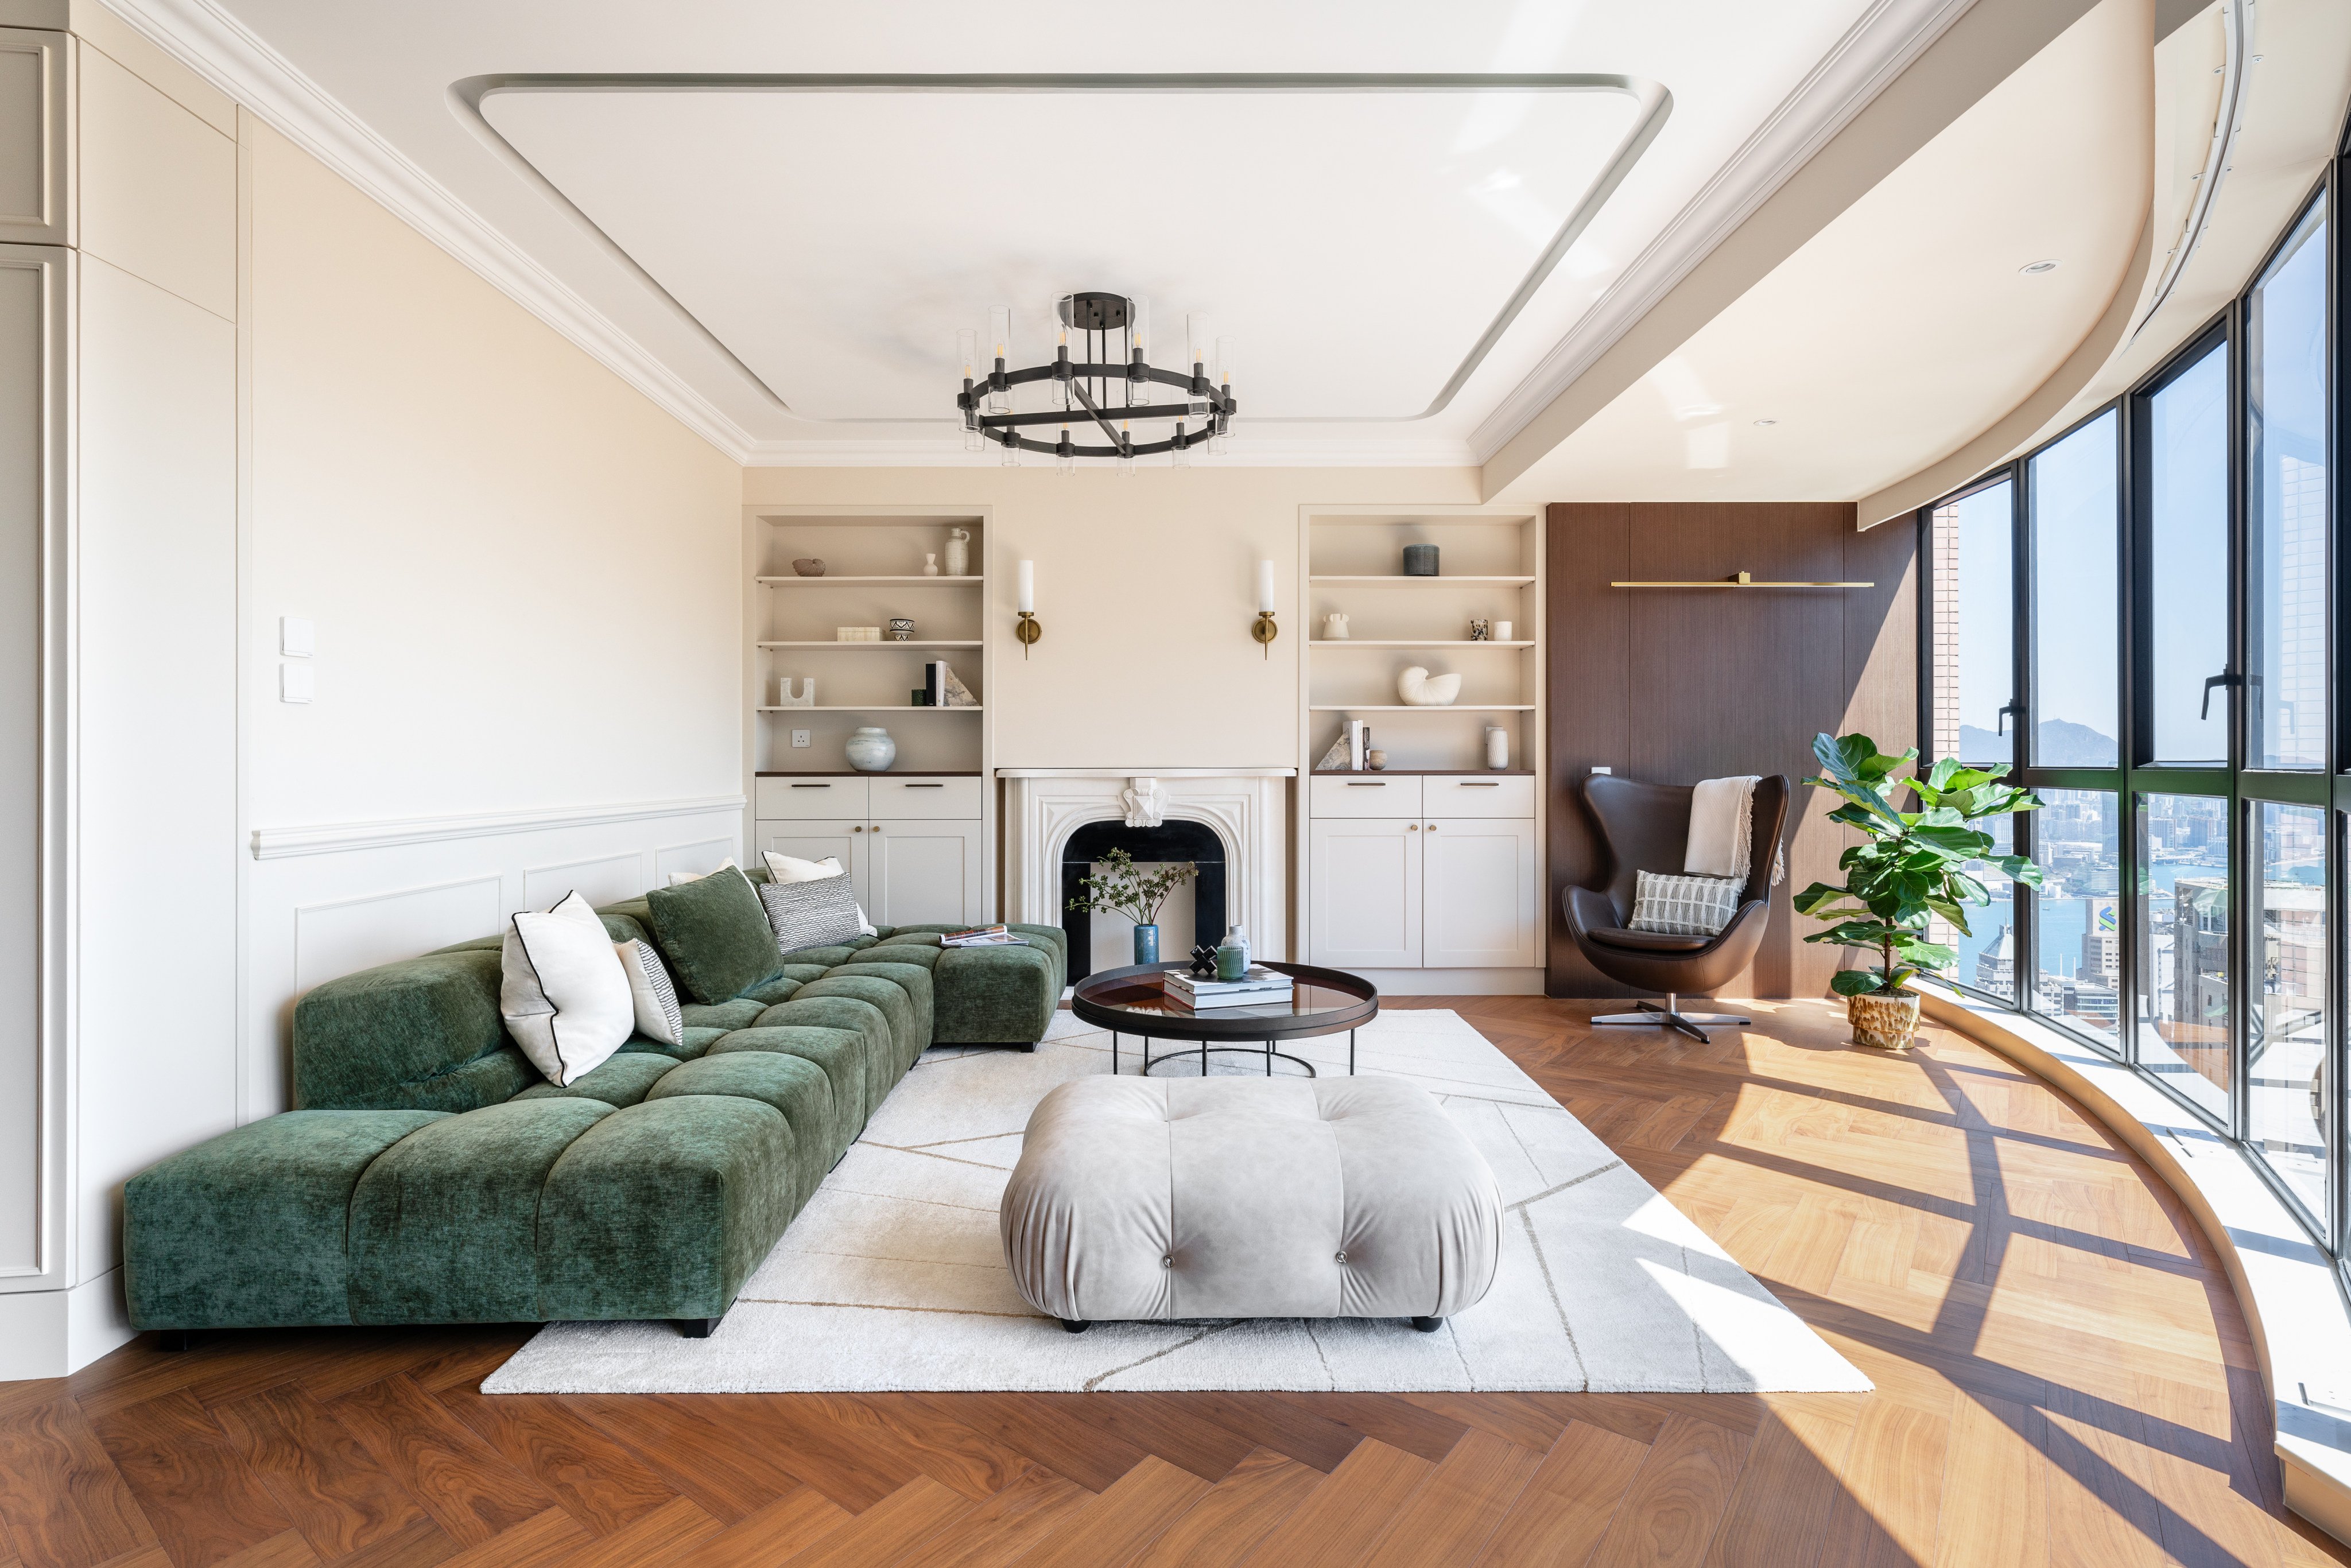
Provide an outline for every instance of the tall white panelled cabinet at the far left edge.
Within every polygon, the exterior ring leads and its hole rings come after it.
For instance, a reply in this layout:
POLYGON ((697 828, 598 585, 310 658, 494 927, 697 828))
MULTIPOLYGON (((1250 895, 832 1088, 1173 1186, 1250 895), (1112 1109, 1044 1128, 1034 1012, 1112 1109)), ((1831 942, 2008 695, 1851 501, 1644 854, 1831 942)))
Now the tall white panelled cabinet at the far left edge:
POLYGON ((129 1338, 122 1180, 235 1126, 240 313, 235 103, 0 0, 0 1380, 129 1338))

